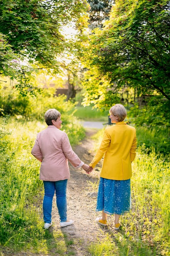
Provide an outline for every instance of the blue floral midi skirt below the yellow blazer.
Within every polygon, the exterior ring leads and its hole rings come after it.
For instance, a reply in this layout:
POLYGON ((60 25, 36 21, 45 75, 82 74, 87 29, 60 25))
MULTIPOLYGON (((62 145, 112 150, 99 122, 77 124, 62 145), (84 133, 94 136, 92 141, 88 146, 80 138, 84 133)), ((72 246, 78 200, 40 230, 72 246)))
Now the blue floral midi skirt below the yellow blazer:
POLYGON ((130 179, 108 180, 100 178, 96 212, 124 214, 131 209, 130 179))

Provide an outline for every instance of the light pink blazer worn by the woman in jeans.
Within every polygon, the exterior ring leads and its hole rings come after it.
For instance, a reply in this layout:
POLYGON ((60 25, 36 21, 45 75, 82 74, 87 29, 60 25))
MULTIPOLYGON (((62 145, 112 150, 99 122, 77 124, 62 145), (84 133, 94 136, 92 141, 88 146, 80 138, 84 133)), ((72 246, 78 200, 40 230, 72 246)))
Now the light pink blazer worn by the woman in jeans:
POLYGON ((65 132, 53 125, 37 134, 32 155, 42 160, 40 180, 58 181, 70 177, 68 161, 76 168, 84 165, 74 153, 65 132))

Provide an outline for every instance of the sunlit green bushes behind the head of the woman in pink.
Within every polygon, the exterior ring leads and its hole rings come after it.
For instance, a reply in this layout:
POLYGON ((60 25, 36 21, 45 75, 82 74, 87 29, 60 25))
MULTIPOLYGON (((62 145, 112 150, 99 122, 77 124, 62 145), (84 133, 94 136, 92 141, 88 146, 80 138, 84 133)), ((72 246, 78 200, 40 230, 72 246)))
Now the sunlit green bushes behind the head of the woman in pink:
POLYGON ((84 137, 84 129, 77 124, 74 116, 75 103, 66 101, 66 98, 66 95, 53 97, 48 89, 36 97, 22 97, 18 91, 10 91, 9 87, 2 90, 0 116, 10 114, 21 123, 35 119, 45 122, 45 112, 49 108, 56 108, 62 115, 62 130, 68 134, 70 143, 77 144, 84 137))

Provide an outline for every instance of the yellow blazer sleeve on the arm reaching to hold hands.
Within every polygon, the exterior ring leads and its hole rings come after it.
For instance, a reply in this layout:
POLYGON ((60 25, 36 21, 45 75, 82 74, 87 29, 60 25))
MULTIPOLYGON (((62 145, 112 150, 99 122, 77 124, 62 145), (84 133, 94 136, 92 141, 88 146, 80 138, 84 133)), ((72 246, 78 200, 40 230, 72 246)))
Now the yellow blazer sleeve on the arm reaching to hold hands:
POLYGON ((94 159, 89 164, 92 168, 94 168, 96 164, 102 159, 104 153, 106 153, 106 151, 108 150, 110 142, 111 142, 111 136, 108 134, 107 130, 105 129, 100 147, 98 148, 94 156, 94 159))

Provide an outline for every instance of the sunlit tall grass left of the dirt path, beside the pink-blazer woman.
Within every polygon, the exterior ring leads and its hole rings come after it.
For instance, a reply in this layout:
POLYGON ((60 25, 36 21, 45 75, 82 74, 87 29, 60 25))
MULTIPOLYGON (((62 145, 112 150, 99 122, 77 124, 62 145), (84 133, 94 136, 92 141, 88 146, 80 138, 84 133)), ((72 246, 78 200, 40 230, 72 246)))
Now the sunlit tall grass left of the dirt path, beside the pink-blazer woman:
MULTIPOLYGON (((73 118, 75 120, 75 118, 73 118)), ((40 162, 31 155, 36 134, 47 126, 44 122, 1 120, 0 129, 0 245, 3 251, 30 250, 50 255, 74 255, 73 240, 61 231, 43 229, 42 181, 40 162)), ((73 145, 84 137, 77 123, 63 126, 73 145)))

